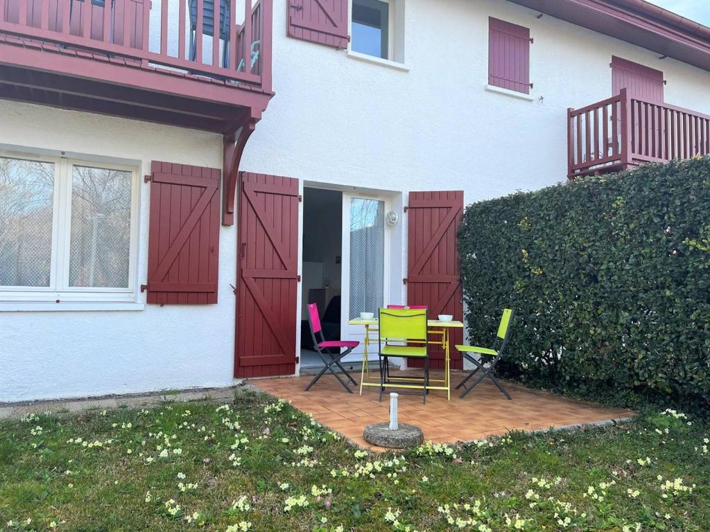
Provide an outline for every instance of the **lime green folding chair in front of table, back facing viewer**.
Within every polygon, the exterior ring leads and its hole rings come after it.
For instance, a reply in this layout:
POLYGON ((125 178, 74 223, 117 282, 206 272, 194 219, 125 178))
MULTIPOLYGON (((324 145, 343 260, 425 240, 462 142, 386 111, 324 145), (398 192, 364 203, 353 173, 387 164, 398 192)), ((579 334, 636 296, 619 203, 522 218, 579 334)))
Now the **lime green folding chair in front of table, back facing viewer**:
POLYGON ((422 401, 426 403, 427 386, 429 386, 427 309, 380 309, 378 328, 380 340, 380 351, 378 353, 380 360, 380 401, 385 388, 411 388, 421 389, 422 393, 401 393, 421 395, 422 401), (390 357, 424 360, 424 379, 419 379, 418 377, 392 377, 387 371, 390 357))

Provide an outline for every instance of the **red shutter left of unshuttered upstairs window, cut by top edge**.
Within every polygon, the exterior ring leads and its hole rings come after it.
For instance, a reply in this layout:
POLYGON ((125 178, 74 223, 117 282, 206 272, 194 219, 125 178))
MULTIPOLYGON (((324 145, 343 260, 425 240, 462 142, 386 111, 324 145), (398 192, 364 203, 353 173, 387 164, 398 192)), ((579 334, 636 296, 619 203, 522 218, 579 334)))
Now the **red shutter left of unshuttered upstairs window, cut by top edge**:
POLYGON ((348 47, 348 0, 288 0, 288 35, 348 47))

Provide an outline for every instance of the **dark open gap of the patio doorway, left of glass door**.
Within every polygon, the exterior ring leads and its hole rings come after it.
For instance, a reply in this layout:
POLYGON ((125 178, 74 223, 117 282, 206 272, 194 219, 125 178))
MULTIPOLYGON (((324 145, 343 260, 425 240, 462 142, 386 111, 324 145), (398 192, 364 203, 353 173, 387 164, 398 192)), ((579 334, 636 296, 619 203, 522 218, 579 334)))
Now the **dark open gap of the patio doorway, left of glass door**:
POLYGON ((340 338, 342 317, 342 207, 338 190, 303 189, 300 367, 320 367, 313 348, 307 305, 315 303, 326 340, 340 338))

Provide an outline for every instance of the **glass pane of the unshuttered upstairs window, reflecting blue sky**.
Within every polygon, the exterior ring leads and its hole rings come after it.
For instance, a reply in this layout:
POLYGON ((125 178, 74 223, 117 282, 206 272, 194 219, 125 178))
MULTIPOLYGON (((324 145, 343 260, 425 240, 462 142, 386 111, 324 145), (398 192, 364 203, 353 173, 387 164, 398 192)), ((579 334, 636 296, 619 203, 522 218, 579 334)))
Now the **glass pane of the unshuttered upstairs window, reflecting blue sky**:
POLYGON ((379 0, 354 0, 351 48, 388 59, 389 4, 379 0))

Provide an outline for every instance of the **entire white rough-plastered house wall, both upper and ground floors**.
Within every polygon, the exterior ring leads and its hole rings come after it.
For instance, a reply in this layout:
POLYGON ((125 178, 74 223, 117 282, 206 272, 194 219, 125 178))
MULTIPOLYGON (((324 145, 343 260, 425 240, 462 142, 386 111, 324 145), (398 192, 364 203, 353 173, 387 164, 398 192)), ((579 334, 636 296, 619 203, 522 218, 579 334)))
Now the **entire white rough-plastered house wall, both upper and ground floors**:
MULTIPOLYGON (((403 194, 463 189, 467 204, 545 187, 566 179, 567 107, 611 96, 611 55, 662 70, 665 101, 710 114, 710 72, 508 2, 405 1, 408 71, 288 38, 286 2, 275 0, 276 96, 241 170, 403 194), (488 16, 530 28, 533 101, 484 89, 488 16)), ((0 144, 137 160, 141 175, 151 160, 222 164, 219 135, 10 101, 0 116, 0 144)), ((136 284, 148 189, 141 182, 136 284)), ((220 235, 217 305, 0 312, 0 401, 231 384, 236 227, 220 235)), ((406 231, 393 240, 395 297, 406 231)))

